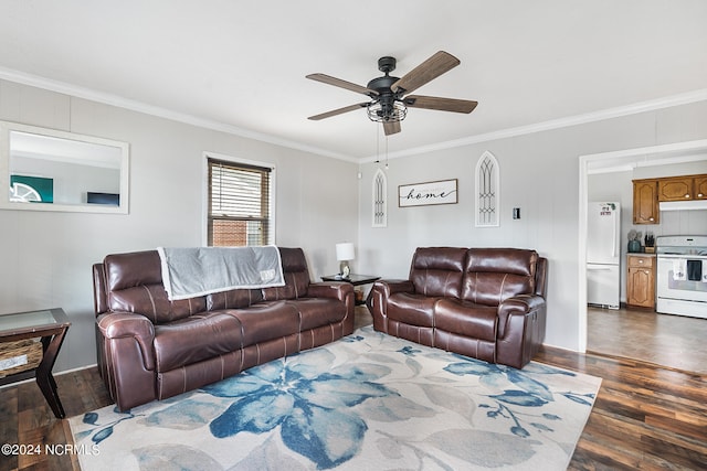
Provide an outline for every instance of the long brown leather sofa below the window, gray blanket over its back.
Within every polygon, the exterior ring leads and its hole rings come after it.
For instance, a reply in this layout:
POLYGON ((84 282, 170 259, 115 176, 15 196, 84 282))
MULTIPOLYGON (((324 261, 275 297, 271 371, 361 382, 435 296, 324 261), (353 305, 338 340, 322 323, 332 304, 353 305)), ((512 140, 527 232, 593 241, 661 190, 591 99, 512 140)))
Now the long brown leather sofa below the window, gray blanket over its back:
POLYGON ((354 331, 349 283, 309 281, 279 248, 285 286, 169 301, 157 250, 93 266, 101 374, 118 409, 165 399, 354 331))

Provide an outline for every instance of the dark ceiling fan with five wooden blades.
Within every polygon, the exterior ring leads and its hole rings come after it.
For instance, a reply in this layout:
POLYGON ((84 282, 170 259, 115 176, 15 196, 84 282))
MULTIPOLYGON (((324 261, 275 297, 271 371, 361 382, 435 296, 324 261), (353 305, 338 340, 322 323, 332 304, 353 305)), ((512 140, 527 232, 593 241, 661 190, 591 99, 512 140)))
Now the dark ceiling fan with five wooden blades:
POLYGON ((344 108, 310 116, 309 119, 316 121, 366 108, 369 119, 382 122, 386 136, 390 136, 400 132, 400 121, 405 119, 408 107, 436 109, 440 111, 472 113, 478 103, 467 99, 408 95, 460 64, 461 61, 452 54, 439 51, 403 75, 402 78, 399 78, 390 75, 390 73, 395 69, 395 57, 386 56, 378 60, 378 69, 386 75, 373 78, 365 87, 326 74, 309 74, 307 78, 313 81, 346 88, 347 90, 370 97, 369 101, 357 103, 356 105, 349 105, 344 108))

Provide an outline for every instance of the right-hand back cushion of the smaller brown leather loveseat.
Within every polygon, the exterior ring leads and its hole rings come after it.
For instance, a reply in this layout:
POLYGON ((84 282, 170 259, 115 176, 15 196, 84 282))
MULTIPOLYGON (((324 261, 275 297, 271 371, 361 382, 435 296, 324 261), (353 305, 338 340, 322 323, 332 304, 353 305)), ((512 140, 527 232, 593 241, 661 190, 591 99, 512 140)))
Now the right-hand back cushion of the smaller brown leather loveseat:
POLYGON ((538 254, 520 248, 469 248, 462 299, 498 306, 517 295, 532 295, 538 254))

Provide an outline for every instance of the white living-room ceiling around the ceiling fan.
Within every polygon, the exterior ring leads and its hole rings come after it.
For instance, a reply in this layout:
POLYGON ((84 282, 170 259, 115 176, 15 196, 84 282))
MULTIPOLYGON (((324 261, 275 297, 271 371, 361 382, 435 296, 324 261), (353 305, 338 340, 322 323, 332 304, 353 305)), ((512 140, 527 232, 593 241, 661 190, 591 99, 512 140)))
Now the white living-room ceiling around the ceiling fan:
POLYGON ((383 55, 401 76, 447 51, 415 93, 479 103, 410 109, 391 156, 707 99, 704 0, 3 0, 0 40, 0 78, 347 160, 382 129, 308 120, 366 97, 305 75, 366 85, 383 55))

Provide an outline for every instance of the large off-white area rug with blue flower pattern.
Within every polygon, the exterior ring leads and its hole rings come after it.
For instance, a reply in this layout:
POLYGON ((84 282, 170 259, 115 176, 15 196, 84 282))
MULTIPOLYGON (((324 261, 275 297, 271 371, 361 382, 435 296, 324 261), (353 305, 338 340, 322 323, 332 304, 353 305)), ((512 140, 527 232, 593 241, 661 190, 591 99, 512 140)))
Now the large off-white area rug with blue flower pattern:
POLYGON ((70 424, 84 471, 564 470, 600 383, 366 327, 192 393, 70 424))

